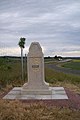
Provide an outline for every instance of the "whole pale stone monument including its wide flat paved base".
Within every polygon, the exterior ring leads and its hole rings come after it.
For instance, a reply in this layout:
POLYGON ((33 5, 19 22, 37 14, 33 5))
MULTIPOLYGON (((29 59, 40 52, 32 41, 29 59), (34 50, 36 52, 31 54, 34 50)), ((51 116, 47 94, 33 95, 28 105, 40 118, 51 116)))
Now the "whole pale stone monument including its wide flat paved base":
POLYGON ((38 42, 33 42, 27 56, 28 82, 14 87, 3 99, 68 99, 63 87, 49 87, 44 76, 44 56, 38 42))

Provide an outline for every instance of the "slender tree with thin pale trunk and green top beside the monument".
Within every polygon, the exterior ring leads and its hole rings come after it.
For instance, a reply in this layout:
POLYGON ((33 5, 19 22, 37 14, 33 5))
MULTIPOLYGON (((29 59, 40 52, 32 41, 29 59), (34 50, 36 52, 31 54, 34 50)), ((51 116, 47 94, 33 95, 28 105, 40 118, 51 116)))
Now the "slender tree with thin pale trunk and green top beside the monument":
POLYGON ((21 48, 21 66, 22 66, 22 80, 23 80, 23 48, 25 48, 25 40, 26 38, 20 38, 19 40, 19 47, 21 48))

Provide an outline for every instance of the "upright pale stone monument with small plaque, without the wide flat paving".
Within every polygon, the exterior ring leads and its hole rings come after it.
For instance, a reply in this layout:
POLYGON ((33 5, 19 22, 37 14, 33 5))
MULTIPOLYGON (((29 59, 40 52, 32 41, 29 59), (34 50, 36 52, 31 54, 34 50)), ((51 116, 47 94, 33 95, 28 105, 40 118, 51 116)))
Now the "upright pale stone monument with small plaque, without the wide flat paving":
POLYGON ((22 94, 51 94, 44 77, 44 56, 38 42, 33 42, 27 55, 28 83, 22 87, 22 94))

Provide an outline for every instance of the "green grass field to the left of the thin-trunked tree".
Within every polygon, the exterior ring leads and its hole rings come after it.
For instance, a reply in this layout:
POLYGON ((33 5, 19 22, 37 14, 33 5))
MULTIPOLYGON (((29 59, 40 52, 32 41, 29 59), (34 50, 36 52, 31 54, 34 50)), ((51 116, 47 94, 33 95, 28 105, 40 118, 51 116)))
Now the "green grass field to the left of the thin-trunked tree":
MULTIPOLYGON (((27 79, 25 75, 25 79, 27 79)), ((21 80, 21 61, 20 59, 0 58, 0 84, 12 84, 19 86, 24 81, 21 80)))

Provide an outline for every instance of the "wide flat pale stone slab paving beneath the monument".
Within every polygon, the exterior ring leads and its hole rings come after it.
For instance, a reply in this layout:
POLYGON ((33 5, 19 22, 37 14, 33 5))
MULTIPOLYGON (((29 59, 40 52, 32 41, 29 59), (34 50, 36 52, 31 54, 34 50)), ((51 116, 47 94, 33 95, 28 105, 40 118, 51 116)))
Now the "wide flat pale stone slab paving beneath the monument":
POLYGON ((19 99, 19 100, 53 100, 53 99, 68 99, 68 96, 63 87, 49 87, 51 93, 47 94, 47 91, 22 91, 22 87, 13 88, 3 99, 19 99), (24 93, 24 94, 23 94, 24 93), (44 94, 43 94, 44 93, 44 94))

